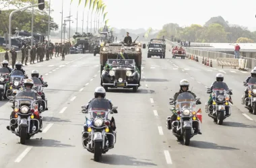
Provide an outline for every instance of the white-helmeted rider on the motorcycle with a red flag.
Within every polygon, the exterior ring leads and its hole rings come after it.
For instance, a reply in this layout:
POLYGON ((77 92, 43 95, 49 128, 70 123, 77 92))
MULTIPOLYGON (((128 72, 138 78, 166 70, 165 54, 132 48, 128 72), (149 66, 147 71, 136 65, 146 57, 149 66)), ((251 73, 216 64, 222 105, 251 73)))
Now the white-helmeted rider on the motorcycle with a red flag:
MULTIPOLYGON (((174 94, 174 102, 177 100, 177 97, 179 96, 179 94, 183 93, 183 92, 188 92, 191 93, 194 97, 197 97, 195 95, 195 93, 193 93, 192 91, 189 91, 189 81, 187 81, 187 79, 183 79, 180 81, 180 87, 181 89, 174 94)), ((197 101, 197 104, 201 104, 201 101, 197 101)), ((168 118, 169 119, 169 118, 168 118)), ((170 117, 170 120, 168 121, 168 129, 172 129, 172 122, 177 120, 177 116, 176 114, 172 113, 172 116, 170 117)), ((199 130, 199 126, 195 126, 194 124, 197 123, 193 123, 193 128, 195 128, 195 132, 198 132, 198 134, 201 134, 200 130, 199 130)), ((174 132, 176 131, 176 128, 174 128, 174 132)))

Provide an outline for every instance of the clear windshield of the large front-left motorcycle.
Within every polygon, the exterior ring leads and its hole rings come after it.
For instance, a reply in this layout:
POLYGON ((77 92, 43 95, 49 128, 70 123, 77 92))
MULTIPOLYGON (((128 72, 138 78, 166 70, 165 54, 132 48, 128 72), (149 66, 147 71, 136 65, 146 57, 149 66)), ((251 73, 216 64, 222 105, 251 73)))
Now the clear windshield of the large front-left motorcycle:
POLYGON ((32 89, 24 89, 15 95, 15 100, 18 101, 20 105, 22 104, 32 104, 36 101, 36 93, 32 89))

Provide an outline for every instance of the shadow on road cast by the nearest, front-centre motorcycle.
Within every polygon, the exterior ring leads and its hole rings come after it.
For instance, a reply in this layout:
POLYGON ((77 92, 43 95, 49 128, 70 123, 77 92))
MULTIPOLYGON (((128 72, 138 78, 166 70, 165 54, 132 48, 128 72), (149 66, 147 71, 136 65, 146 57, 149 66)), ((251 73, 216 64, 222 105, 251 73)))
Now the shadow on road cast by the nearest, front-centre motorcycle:
POLYGON ((101 163, 108 165, 157 166, 154 163, 138 161, 135 157, 127 157, 124 155, 102 155, 101 163))

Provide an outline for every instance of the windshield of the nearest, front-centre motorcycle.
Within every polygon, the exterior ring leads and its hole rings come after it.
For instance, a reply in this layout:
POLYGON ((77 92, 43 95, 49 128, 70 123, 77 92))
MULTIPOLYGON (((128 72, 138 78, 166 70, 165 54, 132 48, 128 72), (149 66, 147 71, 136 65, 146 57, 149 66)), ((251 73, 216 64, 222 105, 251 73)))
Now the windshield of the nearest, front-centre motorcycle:
POLYGON ((108 111, 111 110, 111 107, 107 99, 95 98, 90 102, 88 109, 92 118, 107 118, 108 111))

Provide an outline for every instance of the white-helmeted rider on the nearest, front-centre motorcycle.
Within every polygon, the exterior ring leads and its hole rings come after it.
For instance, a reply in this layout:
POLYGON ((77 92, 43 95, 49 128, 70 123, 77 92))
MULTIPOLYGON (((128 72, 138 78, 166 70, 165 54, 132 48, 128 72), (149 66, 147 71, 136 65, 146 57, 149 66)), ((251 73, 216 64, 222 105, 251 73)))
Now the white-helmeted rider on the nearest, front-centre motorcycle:
MULTIPOLYGON (((104 87, 96 87, 95 91, 94 91, 94 98, 91 99, 87 106, 86 106, 86 110, 82 110, 83 113, 87 113, 88 108, 90 106, 90 103, 94 100, 94 99, 98 99, 98 98, 102 98, 102 99, 106 99, 106 90, 104 89, 104 87)), ((111 109, 113 108, 113 104, 111 103, 110 100, 108 100, 108 102, 110 103, 110 107, 111 109)), ((113 110, 114 113, 117 113, 117 110, 113 110)), ((84 125, 84 131, 87 131, 87 125, 84 125)), ((115 131, 117 129, 116 125, 115 125, 115 119, 112 117, 110 120, 110 128, 109 128, 109 132, 113 134, 113 131, 115 131)), ((106 136, 108 138, 108 147, 113 146, 113 136, 111 135, 107 135, 106 136)))

